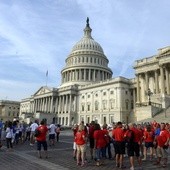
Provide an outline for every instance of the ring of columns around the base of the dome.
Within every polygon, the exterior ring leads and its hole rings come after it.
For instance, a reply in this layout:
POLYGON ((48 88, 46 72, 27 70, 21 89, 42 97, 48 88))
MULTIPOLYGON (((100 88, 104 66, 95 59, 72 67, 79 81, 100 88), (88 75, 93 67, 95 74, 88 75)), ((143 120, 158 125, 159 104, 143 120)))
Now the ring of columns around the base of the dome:
POLYGON ((102 81, 111 78, 111 73, 95 69, 75 69, 62 73, 62 82, 68 81, 102 81))

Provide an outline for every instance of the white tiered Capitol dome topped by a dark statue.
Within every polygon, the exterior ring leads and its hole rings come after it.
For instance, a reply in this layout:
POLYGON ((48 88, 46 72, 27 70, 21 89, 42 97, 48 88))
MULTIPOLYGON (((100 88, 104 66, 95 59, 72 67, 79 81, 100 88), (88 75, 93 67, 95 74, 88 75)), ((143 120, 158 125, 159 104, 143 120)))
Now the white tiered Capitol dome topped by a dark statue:
POLYGON ((108 59, 102 47, 91 36, 87 18, 84 36, 72 48, 62 70, 62 85, 84 85, 112 77, 108 59))

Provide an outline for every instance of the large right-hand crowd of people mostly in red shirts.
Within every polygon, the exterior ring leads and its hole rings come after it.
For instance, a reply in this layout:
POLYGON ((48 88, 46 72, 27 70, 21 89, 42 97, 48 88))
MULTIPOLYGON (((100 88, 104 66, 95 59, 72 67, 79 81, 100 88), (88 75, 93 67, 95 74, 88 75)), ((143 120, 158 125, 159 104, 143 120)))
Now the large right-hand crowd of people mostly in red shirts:
POLYGON ((75 124, 72 130, 73 157, 77 165, 85 165, 87 145, 89 145, 91 159, 96 161, 97 166, 102 165, 108 158, 115 159, 116 167, 122 169, 125 167, 124 157, 127 155, 130 170, 134 170, 134 156, 137 158, 139 169, 142 169, 142 161, 154 158, 156 161, 153 164, 167 167, 170 146, 170 124, 168 123, 153 121, 144 124, 123 124, 117 122, 112 128, 108 128, 107 124, 100 126, 92 121, 85 125, 82 121, 79 125, 75 124))

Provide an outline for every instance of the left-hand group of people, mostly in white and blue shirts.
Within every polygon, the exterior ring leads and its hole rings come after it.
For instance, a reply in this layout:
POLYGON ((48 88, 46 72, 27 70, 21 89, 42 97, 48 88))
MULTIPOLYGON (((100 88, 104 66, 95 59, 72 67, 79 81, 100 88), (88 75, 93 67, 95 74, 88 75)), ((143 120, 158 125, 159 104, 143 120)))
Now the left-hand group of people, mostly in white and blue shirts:
POLYGON ((0 121, 0 146, 2 146, 2 140, 6 140, 7 151, 13 150, 13 145, 25 143, 29 141, 30 146, 33 146, 36 142, 38 156, 42 158, 41 146, 44 148, 45 158, 47 155, 47 140, 49 140, 49 146, 54 146, 55 141, 59 141, 60 125, 55 125, 52 122, 50 125, 46 124, 46 120, 42 120, 40 123, 38 120, 26 124, 25 122, 14 121, 0 121), (38 132, 36 135, 35 133, 38 132), (47 138, 48 135, 48 138, 47 138))

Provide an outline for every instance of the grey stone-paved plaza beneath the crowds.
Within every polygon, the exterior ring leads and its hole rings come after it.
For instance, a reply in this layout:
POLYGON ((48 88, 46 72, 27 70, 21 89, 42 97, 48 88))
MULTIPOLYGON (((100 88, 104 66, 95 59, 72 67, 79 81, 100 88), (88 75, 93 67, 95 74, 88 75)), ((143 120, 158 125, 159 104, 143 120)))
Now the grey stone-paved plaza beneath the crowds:
MULTIPOLYGON (((71 131, 62 131, 60 142, 54 147, 49 147, 49 158, 39 159, 37 157, 36 145, 30 146, 28 142, 14 146, 13 152, 6 152, 5 145, 0 149, 0 170, 117 170, 115 160, 106 160, 105 164, 96 167, 94 161, 88 160, 85 167, 76 165, 72 157, 72 133, 71 131)), ((88 148, 87 148, 88 149, 88 148)), ((87 150, 88 151, 88 150, 87 150)), ((89 158, 89 152, 87 152, 89 158)), ((129 160, 125 158, 125 165, 129 169, 129 160)), ((153 165, 151 161, 143 162, 143 170, 169 170, 170 156, 167 168, 153 165)), ((137 163, 135 170, 138 170, 137 163)))

